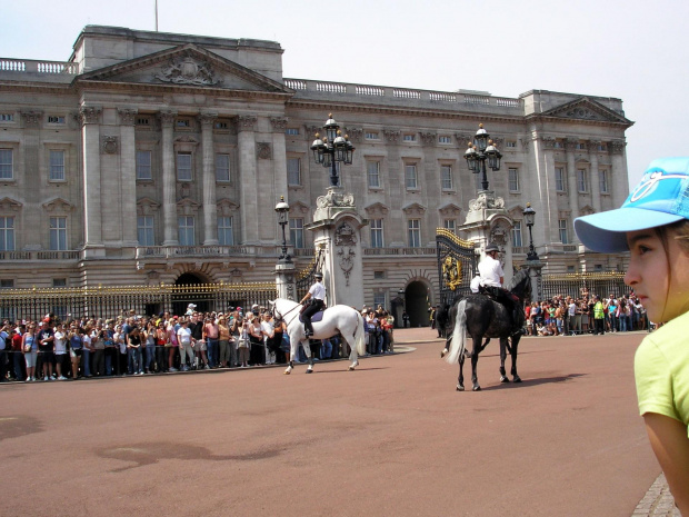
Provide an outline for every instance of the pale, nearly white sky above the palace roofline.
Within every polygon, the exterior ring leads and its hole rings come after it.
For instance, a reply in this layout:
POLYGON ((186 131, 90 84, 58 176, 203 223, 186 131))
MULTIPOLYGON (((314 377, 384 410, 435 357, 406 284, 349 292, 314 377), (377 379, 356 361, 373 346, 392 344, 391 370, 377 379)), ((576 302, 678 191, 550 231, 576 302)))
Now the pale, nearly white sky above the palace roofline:
MULTIPOLYGON (((154 6, 0 0, 0 59, 66 61, 87 24, 156 30, 154 6)), ((632 187, 689 156, 687 19, 687 0, 158 0, 161 32, 278 41, 288 78, 619 98, 632 187)))

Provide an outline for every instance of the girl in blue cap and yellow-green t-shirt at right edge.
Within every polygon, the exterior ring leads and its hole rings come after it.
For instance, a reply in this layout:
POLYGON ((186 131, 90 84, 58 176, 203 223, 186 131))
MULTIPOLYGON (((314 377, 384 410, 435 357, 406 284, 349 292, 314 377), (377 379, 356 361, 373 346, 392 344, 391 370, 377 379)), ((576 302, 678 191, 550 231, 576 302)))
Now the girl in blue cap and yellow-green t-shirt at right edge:
POLYGON ((655 160, 621 208, 578 218, 595 251, 630 251, 625 282, 666 324, 635 357, 639 412, 675 503, 689 516, 689 158, 655 160))

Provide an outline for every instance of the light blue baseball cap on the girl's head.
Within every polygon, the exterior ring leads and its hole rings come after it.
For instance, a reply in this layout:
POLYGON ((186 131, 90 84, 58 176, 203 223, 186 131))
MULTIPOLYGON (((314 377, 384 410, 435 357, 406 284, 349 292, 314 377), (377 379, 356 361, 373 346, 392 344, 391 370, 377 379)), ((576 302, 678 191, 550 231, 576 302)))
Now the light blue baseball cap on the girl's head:
POLYGON ((617 210, 579 217, 575 231, 587 248, 628 251, 627 232, 689 219, 689 157, 653 160, 617 210))

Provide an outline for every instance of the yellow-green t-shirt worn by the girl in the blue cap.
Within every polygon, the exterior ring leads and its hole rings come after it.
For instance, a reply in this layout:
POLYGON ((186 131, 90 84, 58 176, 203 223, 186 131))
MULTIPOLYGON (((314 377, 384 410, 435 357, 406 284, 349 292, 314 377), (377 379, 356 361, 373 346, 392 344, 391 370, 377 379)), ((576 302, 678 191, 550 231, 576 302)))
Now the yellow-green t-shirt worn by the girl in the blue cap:
POLYGON ((657 412, 689 426, 689 312, 643 339, 635 377, 641 415, 657 412))

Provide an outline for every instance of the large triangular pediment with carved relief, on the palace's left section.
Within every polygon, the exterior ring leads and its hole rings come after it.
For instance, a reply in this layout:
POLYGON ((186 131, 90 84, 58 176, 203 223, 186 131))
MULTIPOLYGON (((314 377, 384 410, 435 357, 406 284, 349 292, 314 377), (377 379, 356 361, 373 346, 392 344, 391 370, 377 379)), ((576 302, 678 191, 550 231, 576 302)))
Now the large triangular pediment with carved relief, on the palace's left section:
POLYGON ((193 43, 123 61, 79 76, 81 84, 213 88, 247 92, 291 93, 278 81, 193 43))

